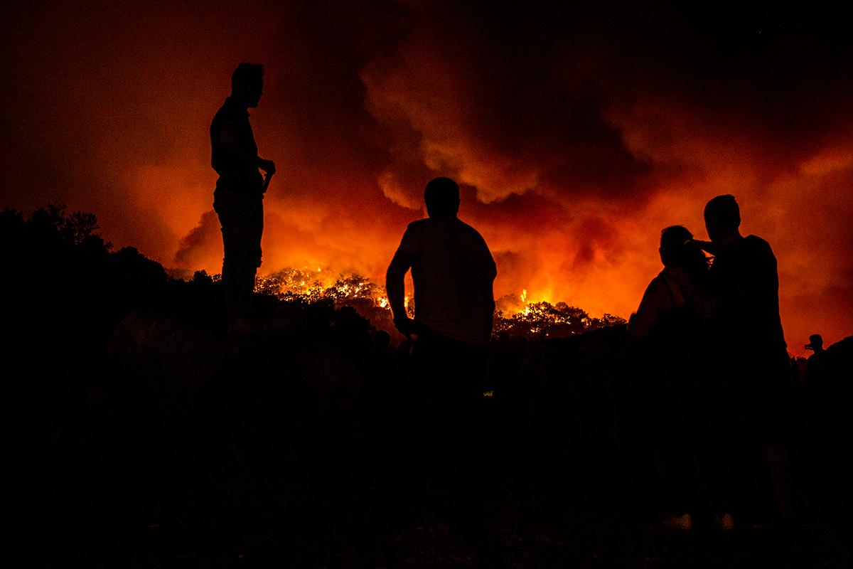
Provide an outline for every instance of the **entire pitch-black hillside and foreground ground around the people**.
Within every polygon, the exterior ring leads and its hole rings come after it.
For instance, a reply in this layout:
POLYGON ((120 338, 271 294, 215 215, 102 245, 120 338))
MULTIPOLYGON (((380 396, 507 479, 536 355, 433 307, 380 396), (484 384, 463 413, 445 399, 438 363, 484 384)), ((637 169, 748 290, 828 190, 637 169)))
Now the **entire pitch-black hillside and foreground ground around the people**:
POLYGON ((624 325, 498 337, 485 515, 463 530, 442 473, 413 516, 380 507, 406 366, 356 310, 259 297, 270 336, 235 340, 210 277, 110 253, 94 216, 0 213, 4 566, 853 566, 850 338, 833 381, 791 394, 794 520, 675 532, 624 414, 624 325))

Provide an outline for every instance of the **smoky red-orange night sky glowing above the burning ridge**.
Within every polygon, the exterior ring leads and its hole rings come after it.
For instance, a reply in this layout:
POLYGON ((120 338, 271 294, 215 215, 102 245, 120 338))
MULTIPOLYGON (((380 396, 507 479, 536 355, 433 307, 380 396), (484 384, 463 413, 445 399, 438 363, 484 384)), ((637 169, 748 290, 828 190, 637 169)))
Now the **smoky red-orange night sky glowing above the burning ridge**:
MULTIPOLYGON (((380 277, 436 176, 496 295, 627 318, 660 230, 733 194, 779 260, 789 350, 853 333, 853 44, 842 12, 450 2, 31 2, 0 19, 0 207, 95 213, 218 272, 208 126, 264 63, 264 264, 380 277), (628 11, 626 11, 628 10, 628 11)), ((839 8, 838 10, 841 10, 839 8)))

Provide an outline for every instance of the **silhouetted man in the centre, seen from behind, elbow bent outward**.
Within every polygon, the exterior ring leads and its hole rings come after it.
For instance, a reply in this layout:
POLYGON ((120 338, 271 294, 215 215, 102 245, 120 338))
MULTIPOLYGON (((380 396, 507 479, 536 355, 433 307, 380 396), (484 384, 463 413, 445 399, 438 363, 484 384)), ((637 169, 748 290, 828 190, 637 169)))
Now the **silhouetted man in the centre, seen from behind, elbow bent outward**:
POLYGON ((417 336, 412 350, 415 460, 436 456, 457 469, 457 514, 470 522, 482 510, 477 429, 497 270, 483 237, 456 218, 456 182, 432 180, 424 201, 429 217, 409 224, 388 267, 386 288, 394 325, 402 334, 417 336), (403 278, 409 269, 415 282, 414 320, 404 306, 403 278))

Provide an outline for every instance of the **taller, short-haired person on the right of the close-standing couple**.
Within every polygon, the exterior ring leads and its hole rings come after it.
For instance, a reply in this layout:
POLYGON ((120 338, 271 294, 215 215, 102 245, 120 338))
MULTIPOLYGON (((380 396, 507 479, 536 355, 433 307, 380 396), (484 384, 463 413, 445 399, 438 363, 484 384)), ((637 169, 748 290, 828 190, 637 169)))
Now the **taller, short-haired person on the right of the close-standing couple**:
MULTIPOLYGON (((732 195, 705 206, 711 242, 697 241, 714 255, 708 296, 683 271, 673 270, 695 310, 711 322, 713 352, 723 363, 724 428, 737 463, 741 505, 749 501, 746 480, 769 479, 775 514, 791 514, 786 376, 788 356, 779 316, 779 276, 767 241, 740 235, 740 207, 732 195)), ((669 271, 669 268, 667 268, 669 271)), ((757 512, 755 513, 757 514, 757 512)), ((737 523, 737 520, 735 520, 737 523)))

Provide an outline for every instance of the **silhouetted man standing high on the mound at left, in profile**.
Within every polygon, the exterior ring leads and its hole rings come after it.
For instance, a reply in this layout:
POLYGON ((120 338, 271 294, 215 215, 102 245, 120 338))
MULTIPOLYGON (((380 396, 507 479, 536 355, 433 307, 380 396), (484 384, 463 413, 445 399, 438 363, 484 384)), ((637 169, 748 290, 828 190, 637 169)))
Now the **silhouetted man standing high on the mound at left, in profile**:
POLYGON ((222 225, 224 258, 222 285, 229 332, 253 334, 250 319, 255 273, 261 265, 264 232, 264 191, 276 171, 271 160, 258 157, 249 124, 249 108, 258 107, 264 93, 264 66, 241 63, 231 75, 231 96, 211 123, 211 165, 219 174, 213 209, 222 225))

